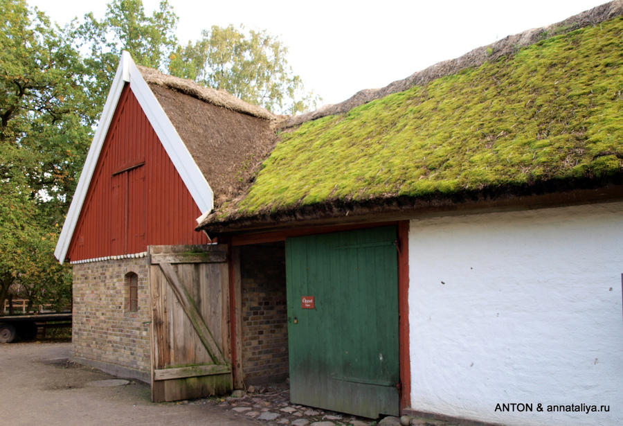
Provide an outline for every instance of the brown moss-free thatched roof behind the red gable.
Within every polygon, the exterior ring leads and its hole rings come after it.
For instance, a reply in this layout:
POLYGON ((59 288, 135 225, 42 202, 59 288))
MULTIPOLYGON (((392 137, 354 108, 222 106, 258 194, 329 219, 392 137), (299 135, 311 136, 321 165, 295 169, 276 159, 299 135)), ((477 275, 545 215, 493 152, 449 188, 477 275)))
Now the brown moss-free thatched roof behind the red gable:
POLYGON ((224 91, 138 66, 215 193, 215 206, 240 193, 271 152, 282 118, 224 91))

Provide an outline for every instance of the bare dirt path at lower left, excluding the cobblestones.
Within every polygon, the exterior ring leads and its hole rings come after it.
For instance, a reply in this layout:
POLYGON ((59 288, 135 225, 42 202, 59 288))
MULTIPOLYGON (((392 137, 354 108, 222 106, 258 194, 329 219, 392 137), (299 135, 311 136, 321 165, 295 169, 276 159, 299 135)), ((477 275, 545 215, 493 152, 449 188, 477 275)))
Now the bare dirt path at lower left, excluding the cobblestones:
POLYGON ((0 344, 0 425, 253 425, 205 400, 153 404, 142 382, 90 387, 112 376, 67 362, 70 343, 0 344))

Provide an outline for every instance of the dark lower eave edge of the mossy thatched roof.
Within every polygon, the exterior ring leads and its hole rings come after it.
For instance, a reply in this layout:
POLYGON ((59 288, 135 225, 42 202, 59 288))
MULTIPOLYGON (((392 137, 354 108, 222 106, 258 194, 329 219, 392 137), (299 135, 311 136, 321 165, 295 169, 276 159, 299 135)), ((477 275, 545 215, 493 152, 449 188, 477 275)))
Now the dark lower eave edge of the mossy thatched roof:
POLYGON ((295 204, 272 210, 271 206, 251 214, 240 213, 235 209, 213 211, 197 225, 195 230, 204 230, 210 235, 236 233, 251 229, 271 229, 302 221, 327 221, 350 217, 352 221, 364 216, 404 215, 431 211, 458 211, 457 206, 478 206, 479 204, 498 204, 518 206, 533 199, 537 205, 550 202, 578 204, 593 202, 595 199, 617 199, 623 197, 623 173, 599 179, 573 179, 565 181, 550 179, 534 182, 527 186, 485 186, 480 189, 462 190, 453 194, 430 194, 413 197, 410 195, 385 195, 370 199, 354 200, 328 199, 315 204, 295 204), (538 201, 541 200, 541 201, 538 201), (545 200, 545 201, 543 201, 545 200), (225 214, 224 214, 225 213, 225 214))

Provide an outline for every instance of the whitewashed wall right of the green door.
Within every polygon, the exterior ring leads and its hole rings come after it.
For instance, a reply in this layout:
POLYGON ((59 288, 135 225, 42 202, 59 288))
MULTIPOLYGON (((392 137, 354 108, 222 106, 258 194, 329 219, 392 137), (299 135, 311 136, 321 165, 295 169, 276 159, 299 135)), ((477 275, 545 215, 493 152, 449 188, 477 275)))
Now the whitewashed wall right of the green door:
POLYGON ((413 409, 623 424, 623 203, 412 220, 409 256, 413 409))

